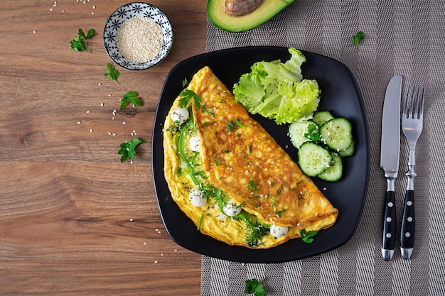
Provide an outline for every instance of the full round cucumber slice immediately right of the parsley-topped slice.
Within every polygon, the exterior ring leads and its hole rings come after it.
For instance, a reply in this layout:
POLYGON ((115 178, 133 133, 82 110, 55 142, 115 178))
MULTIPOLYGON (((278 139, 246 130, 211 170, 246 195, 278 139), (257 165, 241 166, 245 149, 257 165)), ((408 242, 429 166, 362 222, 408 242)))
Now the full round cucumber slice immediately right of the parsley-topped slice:
POLYGON ((321 126, 321 138, 334 151, 347 149, 353 143, 352 126, 348 119, 336 118, 321 126))

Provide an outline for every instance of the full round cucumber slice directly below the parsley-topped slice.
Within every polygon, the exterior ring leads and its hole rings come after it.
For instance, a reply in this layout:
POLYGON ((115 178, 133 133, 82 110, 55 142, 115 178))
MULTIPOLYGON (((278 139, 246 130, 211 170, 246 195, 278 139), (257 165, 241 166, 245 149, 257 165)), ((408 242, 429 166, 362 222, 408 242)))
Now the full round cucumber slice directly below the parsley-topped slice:
POLYGON ((300 146, 299 166, 309 177, 314 177, 328 169, 332 162, 331 153, 326 148, 313 142, 306 142, 300 146))

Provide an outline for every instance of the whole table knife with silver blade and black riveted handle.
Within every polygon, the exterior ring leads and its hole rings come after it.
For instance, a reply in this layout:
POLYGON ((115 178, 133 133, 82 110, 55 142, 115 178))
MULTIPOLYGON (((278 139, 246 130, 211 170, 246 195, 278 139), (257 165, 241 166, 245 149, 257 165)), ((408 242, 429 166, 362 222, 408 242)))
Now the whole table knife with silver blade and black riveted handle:
POLYGON ((382 256, 390 261, 395 249, 395 179, 399 171, 400 97, 402 76, 395 75, 387 85, 382 115, 380 168, 385 171, 387 190, 382 221, 382 256))

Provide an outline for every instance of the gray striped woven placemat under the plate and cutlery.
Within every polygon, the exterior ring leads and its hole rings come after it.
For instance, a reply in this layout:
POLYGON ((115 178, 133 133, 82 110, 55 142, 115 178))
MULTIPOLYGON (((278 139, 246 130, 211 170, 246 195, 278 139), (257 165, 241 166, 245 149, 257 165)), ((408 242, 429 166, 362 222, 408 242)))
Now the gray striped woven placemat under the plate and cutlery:
MULTIPOLYGON (((245 280, 267 278, 267 295, 445 295, 445 1, 296 0, 258 28, 227 33, 208 23, 207 51, 250 45, 293 46, 340 60, 353 72, 370 128, 370 180, 358 229, 328 253, 277 264, 242 264, 203 256, 201 295, 244 295, 245 280), (363 31, 358 52, 352 36, 363 31), (380 169, 385 88, 392 75, 427 87, 424 131, 417 144, 416 242, 409 261, 397 242, 380 253, 386 181, 380 169)), ((396 182, 400 221, 408 147, 402 138, 396 182)), ((352 192, 351 192, 352 193, 352 192)), ((400 223, 397 231, 400 231, 400 223)))

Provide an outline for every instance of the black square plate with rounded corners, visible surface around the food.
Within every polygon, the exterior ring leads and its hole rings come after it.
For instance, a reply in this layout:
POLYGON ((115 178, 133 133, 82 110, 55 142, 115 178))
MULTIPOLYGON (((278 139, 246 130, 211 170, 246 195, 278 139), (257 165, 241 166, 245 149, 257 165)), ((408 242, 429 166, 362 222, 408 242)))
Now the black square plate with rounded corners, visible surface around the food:
MULTIPOLYGON (((191 251, 221 258, 228 261, 245 263, 277 263, 314 256, 331 251, 346 243, 353 236, 363 210, 369 175, 369 139, 363 102, 355 79, 348 67, 329 57, 302 51, 306 62, 302 66, 302 74, 306 79, 315 79, 321 89, 321 102, 318 110, 329 110, 334 116, 349 119, 353 124, 353 136, 356 141, 355 153, 345 158, 345 174, 338 182, 323 182, 317 178, 313 181, 338 209, 336 224, 329 229, 320 231, 315 241, 306 244, 301 239, 293 239, 287 243, 267 250, 252 250, 240 246, 229 246, 226 243, 205 236, 196 230, 195 224, 183 214, 171 198, 163 175, 163 122, 171 104, 182 90, 182 81, 191 78, 198 70, 208 65, 215 75, 229 88, 240 76, 250 72, 250 66, 261 60, 289 60, 287 48, 279 47, 247 47, 219 50, 188 58, 173 67, 163 84, 159 98, 154 131, 151 142, 151 164, 154 188, 159 205, 159 212, 166 231, 173 241, 191 251), (326 188, 326 189, 325 189, 326 188)), ((261 116, 257 119, 275 140, 297 160, 296 149, 287 136, 288 125, 278 126, 274 121, 261 116)))

